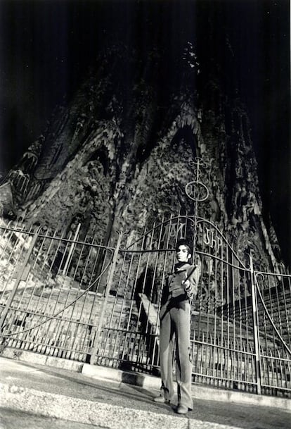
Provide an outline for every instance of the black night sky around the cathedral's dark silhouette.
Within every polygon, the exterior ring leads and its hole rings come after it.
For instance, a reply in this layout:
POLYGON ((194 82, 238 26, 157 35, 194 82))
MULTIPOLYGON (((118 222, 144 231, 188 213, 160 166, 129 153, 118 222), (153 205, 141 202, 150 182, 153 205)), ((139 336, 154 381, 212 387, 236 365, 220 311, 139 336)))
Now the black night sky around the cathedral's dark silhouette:
MULTIPOLYGON (((226 27, 240 98, 252 124, 261 195, 291 267, 290 2, 202 0, 226 27)), ((174 51, 199 20, 197 1, 0 2, 0 173, 44 130, 53 108, 77 88, 115 38, 174 51), (157 29, 157 30, 155 30, 157 29)))

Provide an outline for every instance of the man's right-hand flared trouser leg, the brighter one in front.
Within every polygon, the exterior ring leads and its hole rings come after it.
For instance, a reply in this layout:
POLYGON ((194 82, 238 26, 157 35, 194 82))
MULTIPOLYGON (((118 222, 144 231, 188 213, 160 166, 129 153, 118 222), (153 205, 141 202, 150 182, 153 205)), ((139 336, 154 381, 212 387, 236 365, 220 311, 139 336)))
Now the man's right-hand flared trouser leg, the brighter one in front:
POLYGON ((171 318, 176 330, 176 382, 178 403, 193 409, 191 394, 192 361, 190 347, 190 304, 179 309, 171 309, 171 318))

